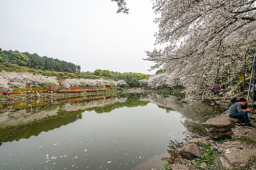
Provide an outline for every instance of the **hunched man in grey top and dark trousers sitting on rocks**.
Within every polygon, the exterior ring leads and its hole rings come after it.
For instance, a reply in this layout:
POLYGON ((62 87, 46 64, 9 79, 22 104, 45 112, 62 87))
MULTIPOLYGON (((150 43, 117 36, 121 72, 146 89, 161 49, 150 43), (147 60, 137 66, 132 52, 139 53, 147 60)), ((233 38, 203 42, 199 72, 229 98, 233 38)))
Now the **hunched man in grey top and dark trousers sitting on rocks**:
POLYGON ((230 106, 228 113, 229 113, 229 117, 233 118, 233 119, 237 119, 237 118, 242 118, 243 122, 245 123, 245 127, 250 127, 250 128, 255 128, 255 126, 253 126, 248 118, 247 112, 250 112, 251 109, 247 108, 247 109, 242 109, 242 106, 246 105, 247 100, 244 98, 239 99, 238 102, 236 102, 235 104, 233 104, 232 106, 230 106))

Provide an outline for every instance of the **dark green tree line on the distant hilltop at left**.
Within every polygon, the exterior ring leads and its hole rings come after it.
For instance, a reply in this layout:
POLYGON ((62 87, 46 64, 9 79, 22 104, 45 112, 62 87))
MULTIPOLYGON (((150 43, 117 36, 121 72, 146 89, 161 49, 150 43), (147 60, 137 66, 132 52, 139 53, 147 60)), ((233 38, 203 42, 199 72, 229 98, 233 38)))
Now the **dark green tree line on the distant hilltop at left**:
POLYGON ((30 54, 29 52, 20 52, 12 50, 0 49, 0 63, 8 62, 18 66, 26 66, 28 68, 37 68, 41 70, 57 71, 57 72, 80 72, 81 66, 53 59, 47 56, 39 56, 37 53, 30 54))

